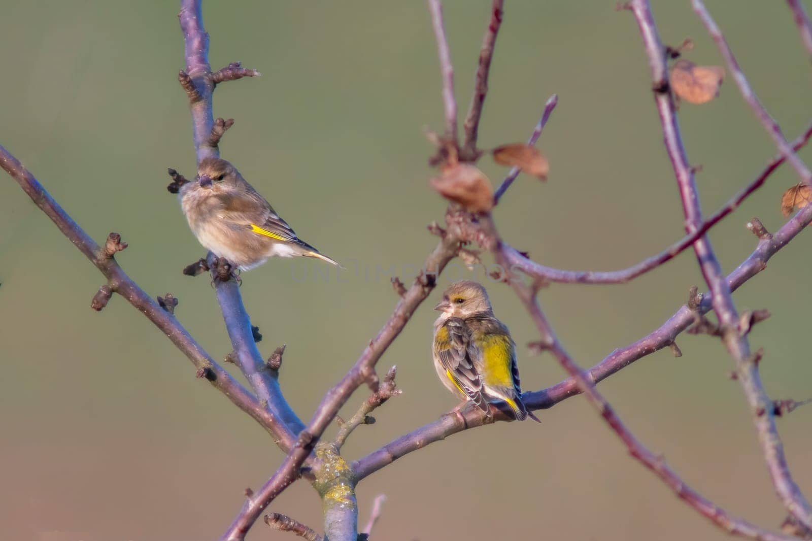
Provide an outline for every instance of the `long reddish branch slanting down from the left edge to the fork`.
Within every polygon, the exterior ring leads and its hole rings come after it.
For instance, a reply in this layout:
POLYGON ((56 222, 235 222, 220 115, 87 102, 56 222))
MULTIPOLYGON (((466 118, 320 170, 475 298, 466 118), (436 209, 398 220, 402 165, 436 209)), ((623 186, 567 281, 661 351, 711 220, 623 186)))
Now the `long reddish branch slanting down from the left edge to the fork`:
MULTIPOLYGON (((192 361, 192 364, 198 370, 205 370, 206 379, 209 383, 273 435, 274 440, 281 447, 290 448, 292 446, 294 440, 284 430, 283 423, 280 422, 279 418, 263 408, 251 392, 248 392, 245 387, 232 378, 226 370, 222 369, 222 366, 219 366, 201 348, 200 344, 197 344, 172 314, 162 309, 151 296, 139 288, 122 270, 118 262, 109 257, 109 250, 102 249, 97 245, 79 227, 79 224, 74 222, 67 212, 54 201, 54 198, 50 197, 50 194, 34 178, 34 175, 2 146, 0 146, 0 167, 19 183, 20 187, 28 194, 28 197, 31 197, 32 201, 56 224, 59 231, 64 236, 67 236, 67 239, 102 272, 102 275, 107 279, 107 287, 110 288, 111 292, 123 296, 149 321, 153 322, 162 331, 163 335, 166 335, 172 344, 175 344, 175 347, 192 361)), ((110 239, 112 236, 108 238, 110 239)), ((117 245, 123 245, 120 240, 121 237, 119 236, 116 241, 117 245)), ((104 296, 106 296, 106 293, 104 296)))

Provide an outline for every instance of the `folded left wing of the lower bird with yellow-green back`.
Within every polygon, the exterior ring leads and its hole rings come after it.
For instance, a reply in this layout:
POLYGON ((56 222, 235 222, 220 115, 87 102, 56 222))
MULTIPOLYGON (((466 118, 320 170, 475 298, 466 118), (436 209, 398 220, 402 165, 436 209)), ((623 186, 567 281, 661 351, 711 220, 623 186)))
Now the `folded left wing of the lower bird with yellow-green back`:
POLYGON ((482 380, 476 369, 481 354, 460 318, 448 318, 434 335, 434 355, 446 370, 448 379, 479 409, 490 413, 490 406, 482 394, 482 380))

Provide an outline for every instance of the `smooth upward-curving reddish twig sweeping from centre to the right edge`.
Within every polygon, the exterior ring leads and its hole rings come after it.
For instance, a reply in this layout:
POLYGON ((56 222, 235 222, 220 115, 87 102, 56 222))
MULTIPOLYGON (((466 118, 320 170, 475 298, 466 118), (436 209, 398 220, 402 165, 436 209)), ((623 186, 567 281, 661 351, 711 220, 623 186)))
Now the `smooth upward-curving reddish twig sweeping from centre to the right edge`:
MULTIPOLYGON (((812 123, 806 128, 805 132, 798 136, 793 141, 793 149, 798 150, 806 146, 812 137, 812 123)), ((741 203, 754 193, 758 188, 764 184, 767 178, 772 175, 782 163, 786 161, 784 156, 777 156, 767 164, 761 173, 750 184, 742 188, 730 201, 728 201, 721 209, 717 210, 708 219, 702 222, 694 232, 684 236, 682 239, 667 247, 662 252, 657 253, 650 258, 646 258, 636 265, 629 266, 620 271, 565 271, 563 269, 555 269, 550 266, 544 266, 534 262, 530 258, 525 257, 518 250, 506 245, 508 262, 513 271, 522 271, 527 275, 545 279, 548 282, 558 283, 625 283, 637 276, 646 274, 652 271, 663 263, 675 258, 676 255, 688 249, 693 243, 705 235, 711 227, 715 226, 733 210, 736 210, 741 203)))

